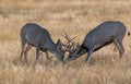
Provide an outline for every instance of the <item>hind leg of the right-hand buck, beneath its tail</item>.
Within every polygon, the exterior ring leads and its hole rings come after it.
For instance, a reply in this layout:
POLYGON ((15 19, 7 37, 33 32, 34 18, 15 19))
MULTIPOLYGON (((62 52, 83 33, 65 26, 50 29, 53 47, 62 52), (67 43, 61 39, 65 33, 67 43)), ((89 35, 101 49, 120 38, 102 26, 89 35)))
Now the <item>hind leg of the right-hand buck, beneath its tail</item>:
POLYGON ((121 58, 124 53, 124 48, 122 46, 122 39, 121 38, 115 38, 115 45, 117 46, 117 48, 119 50, 120 58, 121 58))

